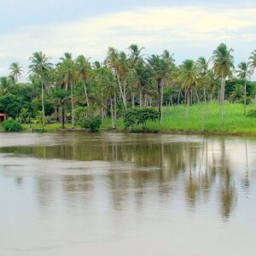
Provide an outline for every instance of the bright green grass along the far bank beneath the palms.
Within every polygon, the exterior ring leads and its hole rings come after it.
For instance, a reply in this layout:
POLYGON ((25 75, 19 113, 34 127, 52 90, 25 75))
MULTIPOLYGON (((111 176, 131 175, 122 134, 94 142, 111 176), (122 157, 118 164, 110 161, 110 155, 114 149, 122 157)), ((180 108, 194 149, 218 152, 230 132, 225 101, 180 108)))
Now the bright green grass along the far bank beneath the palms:
MULTIPOLYGON (((247 110, 253 108, 248 106, 247 110)), ((148 122, 147 131, 185 131, 201 133, 203 130, 203 117, 205 116, 205 132, 208 133, 229 133, 229 134, 248 134, 256 135, 256 119, 245 117, 243 106, 238 103, 226 103, 224 105, 224 122, 219 119, 219 107, 217 103, 208 103, 207 107, 201 104, 195 104, 189 107, 186 117, 184 106, 174 106, 163 108, 163 122, 148 122)), ((26 129, 37 129, 42 126, 39 124, 23 125, 26 129)), ((71 124, 66 124, 67 129, 71 129, 71 124)), ((75 127, 79 129, 79 126, 75 127)), ((111 129, 111 119, 105 119, 102 129, 111 129)), ((124 130, 122 119, 117 120, 117 130, 124 130)), ((46 131, 55 131, 61 129, 61 124, 46 125, 46 131)), ((142 127, 137 126, 135 131, 142 131, 142 127)))

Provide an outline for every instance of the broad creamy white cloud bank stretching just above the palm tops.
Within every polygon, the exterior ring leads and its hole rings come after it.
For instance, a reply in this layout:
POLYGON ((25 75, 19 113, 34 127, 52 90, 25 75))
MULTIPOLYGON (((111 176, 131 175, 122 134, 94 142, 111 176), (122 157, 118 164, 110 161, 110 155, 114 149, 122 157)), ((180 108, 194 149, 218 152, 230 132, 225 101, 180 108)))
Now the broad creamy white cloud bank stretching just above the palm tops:
MULTIPOLYGON (((256 43, 255 28, 256 8, 232 11, 143 9, 61 24, 23 27, 0 36, 0 75, 7 72, 12 61, 20 61, 26 66, 28 57, 37 50, 51 55, 54 60, 66 51, 102 59, 108 46, 125 49, 136 43, 156 52, 165 48, 172 48, 174 53, 192 52, 191 57, 204 55, 209 47, 227 41, 247 48, 249 54, 256 43)), ((238 56, 247 58, 242 56, 244 52, 241 49, 238 56)))

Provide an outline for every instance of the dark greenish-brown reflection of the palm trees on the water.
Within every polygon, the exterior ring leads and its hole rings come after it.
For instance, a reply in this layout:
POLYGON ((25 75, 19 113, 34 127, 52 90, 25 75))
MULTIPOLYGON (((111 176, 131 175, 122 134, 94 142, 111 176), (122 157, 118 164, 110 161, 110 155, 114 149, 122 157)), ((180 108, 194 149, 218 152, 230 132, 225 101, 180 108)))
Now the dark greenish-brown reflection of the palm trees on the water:
POLYGON ((221 217, 228 219, 236 207, 237 187, 250 189, 255 154, 248 156, 247 140, 81 133, 44 137, 44 145, 19 145, 17 139, 17 146, 12 142, 0 148, 2 173, 15 177, 20 189, 34 175, 42 208, 61 196, 70 206, 106 200, 115 210, 142 209, 145 201, 170 203, 183 191, 190 210, 214 198, 221 217))

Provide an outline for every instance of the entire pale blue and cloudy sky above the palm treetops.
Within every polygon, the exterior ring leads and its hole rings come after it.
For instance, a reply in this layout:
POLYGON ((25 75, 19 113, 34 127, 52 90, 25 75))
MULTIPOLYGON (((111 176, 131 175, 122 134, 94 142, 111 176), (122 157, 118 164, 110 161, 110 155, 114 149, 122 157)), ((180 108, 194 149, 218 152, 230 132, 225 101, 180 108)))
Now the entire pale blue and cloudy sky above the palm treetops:
POLYGON ((255 0, 0 0, 0 9, 0 76, 14 61, 26 71, 38 50, 53 62, 65 52, 102 61, 110 46, 138 44, 145 55, 168 49, 179 64, 224 42, 237 65, 256 49, 255 0))

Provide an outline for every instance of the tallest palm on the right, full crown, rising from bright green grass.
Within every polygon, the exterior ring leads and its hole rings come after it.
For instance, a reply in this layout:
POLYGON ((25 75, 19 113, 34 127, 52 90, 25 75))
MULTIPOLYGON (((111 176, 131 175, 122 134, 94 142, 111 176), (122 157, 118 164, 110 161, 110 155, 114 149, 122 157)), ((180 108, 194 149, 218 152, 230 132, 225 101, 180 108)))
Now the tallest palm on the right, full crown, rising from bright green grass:
POLYGON ((231 55, 233 49, 228 49, 227 45, 222 43, 218 48, 213 51, 213 71, 221 78, 219 103, 220 103, 220 116, 224 119, 224 96, 225 96, 225 81, 227 77, 232 76, 234 68, 234 56, 231 55))

